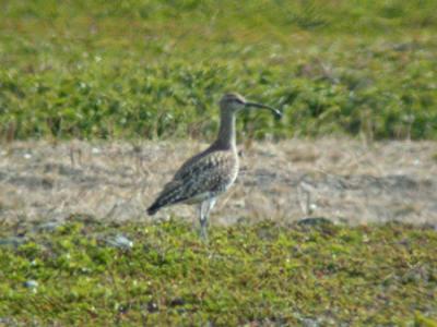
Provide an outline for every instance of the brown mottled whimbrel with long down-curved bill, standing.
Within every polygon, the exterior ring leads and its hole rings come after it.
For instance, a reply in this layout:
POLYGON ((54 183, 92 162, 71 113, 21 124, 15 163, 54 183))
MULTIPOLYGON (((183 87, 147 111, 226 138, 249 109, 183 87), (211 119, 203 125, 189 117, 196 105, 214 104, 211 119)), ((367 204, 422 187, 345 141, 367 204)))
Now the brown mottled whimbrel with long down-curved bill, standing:
POLYGON ((247 101, 238 94, 224 95, 220 100, 221 123, 217 138, 179 168, 147 209, 149 215, 174 204, 199 204, 200 234, 206 239, 210 211, 217 196, 231 187, 238 174, 235 116, 241 109, 250 107, 270 110, 276 118, 282 116, 279 110, 247 101))

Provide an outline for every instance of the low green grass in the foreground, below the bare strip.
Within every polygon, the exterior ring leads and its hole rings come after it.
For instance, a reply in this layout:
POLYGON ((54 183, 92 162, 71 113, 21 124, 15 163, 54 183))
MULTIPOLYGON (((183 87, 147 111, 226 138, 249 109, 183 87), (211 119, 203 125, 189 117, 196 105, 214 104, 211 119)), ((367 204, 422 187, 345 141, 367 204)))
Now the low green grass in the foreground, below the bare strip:
POLYGON ((215 227, 206 245, 192 226, 174 220, 107 226, 79 218, 51 231, 2 227, 0 322, 437 324, 435 229, 262 222, 215 227), (116 234, 133 245, 110 245, 116 234))

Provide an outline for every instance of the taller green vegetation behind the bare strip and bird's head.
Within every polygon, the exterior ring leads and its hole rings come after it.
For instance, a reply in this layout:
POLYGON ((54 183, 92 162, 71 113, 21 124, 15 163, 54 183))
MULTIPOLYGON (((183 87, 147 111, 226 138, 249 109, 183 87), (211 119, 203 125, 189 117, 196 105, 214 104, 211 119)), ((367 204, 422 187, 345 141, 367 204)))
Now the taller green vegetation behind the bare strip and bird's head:
POLYGON ((437 138, 435 0, 0 9, 1 141, 212 137, 225 90, 285 112, 243 114, 255 137, 437 138))

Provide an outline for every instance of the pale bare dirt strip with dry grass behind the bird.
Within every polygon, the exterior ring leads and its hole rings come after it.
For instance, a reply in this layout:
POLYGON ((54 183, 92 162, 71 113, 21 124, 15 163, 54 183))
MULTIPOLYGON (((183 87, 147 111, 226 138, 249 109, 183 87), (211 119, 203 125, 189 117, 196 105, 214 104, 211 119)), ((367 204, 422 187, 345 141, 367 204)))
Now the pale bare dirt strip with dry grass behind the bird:
MULTIPOLYGON (((145 208, 179 165, 205 144, 15 142, 0 145, 0 222, 151 219, 145 208)), ((292 140, 241 148, 236 185, 215 223, 324 217, 366 223, 437 222, 437 143, 292 140)), ((190 206, 156 218, 194 219, 190 206)))

